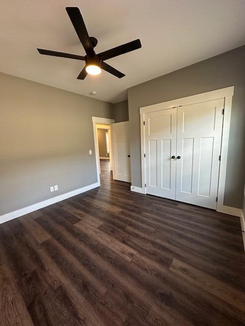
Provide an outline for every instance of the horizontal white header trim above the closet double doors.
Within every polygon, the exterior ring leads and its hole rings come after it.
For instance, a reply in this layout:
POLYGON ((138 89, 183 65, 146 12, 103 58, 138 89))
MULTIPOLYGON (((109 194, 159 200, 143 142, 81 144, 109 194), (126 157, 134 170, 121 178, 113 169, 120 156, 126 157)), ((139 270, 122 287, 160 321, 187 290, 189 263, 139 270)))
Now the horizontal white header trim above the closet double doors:
POLYGON ((140 107, 139 112, 140 114, 142 114, 142 113, 166 110, 167 108, 177 107, 181 105, 189 105, 189 104, 196 104, 196 103, 201 103, 206 101, 217 100, 219 98, 233 96, 233 94, 234 94, 234 86, 231 86, 231 87, 222 88, 220 90, 177 98, 175 100, 157 103, 153 105, 143 106, 140 107))

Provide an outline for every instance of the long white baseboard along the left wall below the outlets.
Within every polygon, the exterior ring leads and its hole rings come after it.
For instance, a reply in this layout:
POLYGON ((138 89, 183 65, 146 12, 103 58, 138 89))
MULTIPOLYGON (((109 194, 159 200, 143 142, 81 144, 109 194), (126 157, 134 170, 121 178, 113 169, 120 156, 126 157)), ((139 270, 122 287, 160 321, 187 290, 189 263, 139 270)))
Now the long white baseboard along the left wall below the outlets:
POLYGON ((27 207, 24 207, 24 208, 20 208, 18 210, 15 210, 13 212, 10 212, 10 213, 4 214, 4 215, 0 215, 0 224, 2 224, 4 222, 7 222, 7 221, 10 221, 10 220, 13 220, 13 219, 16 219, 16 218, 19 218, 20 216, 31 213, 34 210, 37 210, 37 209, 40 209, 40 208, 43 208, 43 207, 58 203, 58 202, 60 202, 60 201, 62 201, 64 199, 67 199, 67 198, 70 198, 70 197, 85 193, 88 190, 91 190, 91 189, 99 187, 99 186, 100 186, 100 183, 95 182, 93 184, 86 185, 85 187, 82 187, 82 188, 79 188, 79 189, 76 189, 76 190, 72 190, 69 193, 59 195, 59 196, 56 196, 56 197, 53 197, 53 198, 50 198, 50 199, 46 199, 46 200, 44 200, 42 202, 27 206, 27 207))

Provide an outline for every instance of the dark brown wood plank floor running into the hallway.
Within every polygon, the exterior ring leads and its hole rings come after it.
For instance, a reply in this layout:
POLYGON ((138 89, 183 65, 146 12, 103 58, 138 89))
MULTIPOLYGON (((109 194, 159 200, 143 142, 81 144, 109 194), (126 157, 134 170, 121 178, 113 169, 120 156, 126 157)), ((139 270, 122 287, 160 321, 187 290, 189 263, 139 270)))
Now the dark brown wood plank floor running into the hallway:
POLYGON ((0 325, 245 325, 238 218, 101 187, 0 225, 0 325))

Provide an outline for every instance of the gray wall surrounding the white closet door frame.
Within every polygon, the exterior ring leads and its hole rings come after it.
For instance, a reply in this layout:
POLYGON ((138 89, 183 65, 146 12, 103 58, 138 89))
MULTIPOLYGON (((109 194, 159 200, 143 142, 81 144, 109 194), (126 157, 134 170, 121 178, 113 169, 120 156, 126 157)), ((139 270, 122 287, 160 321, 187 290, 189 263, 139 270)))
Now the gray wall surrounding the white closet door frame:
POLYGON ((225 205, 242 206, 245 162, 245 46, 128 89, 132 185, 141 187, 139 108, 235 86, 225 205))

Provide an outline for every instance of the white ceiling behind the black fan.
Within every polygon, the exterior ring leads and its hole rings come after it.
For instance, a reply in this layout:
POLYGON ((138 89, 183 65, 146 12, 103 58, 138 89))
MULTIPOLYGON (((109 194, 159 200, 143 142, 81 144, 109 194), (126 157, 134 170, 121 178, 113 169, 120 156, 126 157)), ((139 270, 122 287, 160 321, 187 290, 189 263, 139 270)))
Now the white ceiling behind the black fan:
POLYGON ((245 0, 1 0, 0 71, 118 102, 127 89, 245 44, 245 0), (41 56, 37 47, 85 55, 65 7, 79 7, 96 52, 139 38, 142 48, 106 62, 126 76, 77 76, 84 62, 41 56))

